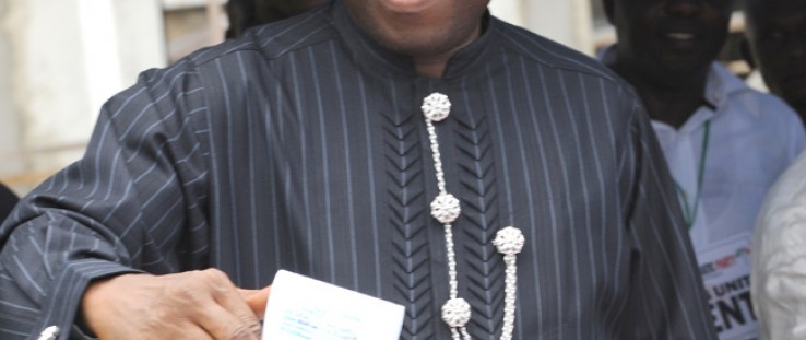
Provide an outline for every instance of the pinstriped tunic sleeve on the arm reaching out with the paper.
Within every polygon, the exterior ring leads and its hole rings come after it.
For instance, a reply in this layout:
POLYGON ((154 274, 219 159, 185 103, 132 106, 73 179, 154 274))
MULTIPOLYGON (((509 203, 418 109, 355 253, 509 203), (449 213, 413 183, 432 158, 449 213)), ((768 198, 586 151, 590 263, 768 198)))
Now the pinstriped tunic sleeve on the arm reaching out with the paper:
POLYGON ((176 271, 203 253, 205 176, 192 69, 141 75, 102 109, 84 157, 28 195, 0 228, 0 338, 72 326, 88 282, 176 271), (197 233, 199 235, 190 235, 197 233), (180 241, 180 237, 182 242, 180 241))

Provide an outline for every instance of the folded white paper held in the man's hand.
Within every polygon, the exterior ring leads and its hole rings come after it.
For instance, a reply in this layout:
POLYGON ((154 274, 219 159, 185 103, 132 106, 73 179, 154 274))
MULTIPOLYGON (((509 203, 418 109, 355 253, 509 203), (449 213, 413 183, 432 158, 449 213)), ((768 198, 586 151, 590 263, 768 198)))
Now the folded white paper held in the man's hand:
POLYGON ((396 340, 404 312, 401 305, 280 270, 262 339, 396 340))

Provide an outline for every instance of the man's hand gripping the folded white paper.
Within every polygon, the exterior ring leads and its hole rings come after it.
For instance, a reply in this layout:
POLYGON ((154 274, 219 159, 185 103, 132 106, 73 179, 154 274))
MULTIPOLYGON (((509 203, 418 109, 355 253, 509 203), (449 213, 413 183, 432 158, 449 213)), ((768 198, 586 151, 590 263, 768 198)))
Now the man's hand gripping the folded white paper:
POLYGON ((86 325, 103 339, 260 339, 269 288, 237 289, 216 269, 122 274, 91 283, 86 325))

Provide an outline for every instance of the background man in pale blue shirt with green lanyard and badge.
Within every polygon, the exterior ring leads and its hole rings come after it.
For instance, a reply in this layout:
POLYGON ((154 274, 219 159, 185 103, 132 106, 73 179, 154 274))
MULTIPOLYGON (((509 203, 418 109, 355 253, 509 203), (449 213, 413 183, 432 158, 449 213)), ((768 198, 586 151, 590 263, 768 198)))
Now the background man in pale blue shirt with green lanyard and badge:
POLYGON ((720 338, 752 338, 756 215, 769 187, 804 150, 803 125, 782 101, 749 89, 715 61, 732 1, 603 1, 617 43, 601 59, 635 86, 652 118, 720 338), (725 259, 734 265, 723 266, 725 259))

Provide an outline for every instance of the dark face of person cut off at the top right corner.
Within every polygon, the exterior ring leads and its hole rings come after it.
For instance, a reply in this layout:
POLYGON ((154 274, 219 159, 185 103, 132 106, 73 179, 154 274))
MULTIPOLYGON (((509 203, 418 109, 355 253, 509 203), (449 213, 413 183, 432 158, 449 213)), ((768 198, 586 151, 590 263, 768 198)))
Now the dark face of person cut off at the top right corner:
POLYGON ((806 4, 802 0, 745 0, 746 59, 764 84, 806 121, 806 4))

